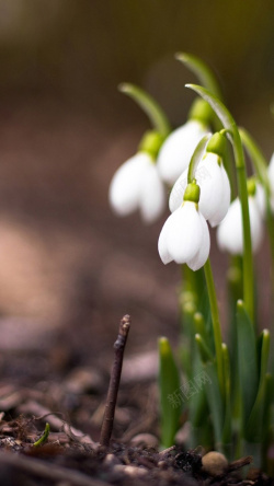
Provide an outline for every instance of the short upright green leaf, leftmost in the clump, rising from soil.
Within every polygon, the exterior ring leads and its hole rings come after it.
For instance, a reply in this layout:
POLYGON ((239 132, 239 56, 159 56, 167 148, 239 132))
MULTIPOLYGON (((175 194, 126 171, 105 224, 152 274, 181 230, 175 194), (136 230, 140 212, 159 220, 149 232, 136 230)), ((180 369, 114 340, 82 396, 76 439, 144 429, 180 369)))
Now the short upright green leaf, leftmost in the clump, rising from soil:
POLYGON ((169 448, 179 428, 183 397, 178 367, 167 337, 159 338, 159 361, 161 444, 169 448))

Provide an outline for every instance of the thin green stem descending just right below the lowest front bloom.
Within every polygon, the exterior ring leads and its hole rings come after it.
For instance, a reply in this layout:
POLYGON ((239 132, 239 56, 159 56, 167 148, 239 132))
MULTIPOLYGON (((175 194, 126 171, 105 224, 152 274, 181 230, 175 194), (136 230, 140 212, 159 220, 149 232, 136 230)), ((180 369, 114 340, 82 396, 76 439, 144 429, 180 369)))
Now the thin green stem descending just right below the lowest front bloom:
POLYGON ((225 373, 224 373, 224 361, 222 361, 222 346, 221 346, 219 310, 218 310, 217 296, 216 296, 212 265, 210 265, 209 258, 207 259, 207 262, 204 265, 204 271, 205 271, 206 286, 207 286, 207 291, 208 291, 208 297, 209 297, 210 311, 212 311, 217 373, 218 373, 218 380, 219 380, 221 395, 225 396, 225 373))

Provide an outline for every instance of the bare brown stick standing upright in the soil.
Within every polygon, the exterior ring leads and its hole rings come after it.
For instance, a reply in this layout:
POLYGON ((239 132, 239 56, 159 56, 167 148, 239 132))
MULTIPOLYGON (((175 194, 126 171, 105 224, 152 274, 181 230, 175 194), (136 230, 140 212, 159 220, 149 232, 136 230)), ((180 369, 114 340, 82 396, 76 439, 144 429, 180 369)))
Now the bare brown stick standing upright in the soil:
POLYGON ((114 343, 115 357, 112 367, 111 381, 105 404, 104 418, 101 429, 100 443, 109 445, 112 436, 113 420, 115 414, 116 400, 119 387, 119 379, 123 366, 124 350, 126 346, 127 335, 130 327, 130 317, 125 315, 119 323, 119 332, 114 343))

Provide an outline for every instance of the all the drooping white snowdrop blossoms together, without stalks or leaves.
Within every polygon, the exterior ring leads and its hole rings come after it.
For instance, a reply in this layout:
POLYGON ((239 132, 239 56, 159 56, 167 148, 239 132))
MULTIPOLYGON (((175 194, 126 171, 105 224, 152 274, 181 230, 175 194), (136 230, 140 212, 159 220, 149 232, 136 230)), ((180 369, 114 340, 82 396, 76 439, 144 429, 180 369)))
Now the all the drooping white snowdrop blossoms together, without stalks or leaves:
MULTIPOLYGON (((221 250, 233 255, 243 252, 240 200, 237 197, 231 201, 224 165, 225 135, 212 135, 210 118, 204 119, 201 103, 198 108, 192 109, 189 120, 168 135, 162 144, 157 140, 156 154, 150 147, 140 144, 138 152, 117 170, 110 187, 110 202, 115 213, 127 216, 139 209, 146 223, 152 223, 162 215, 172 187, 171 216, 159 238, 159 254, 164 264, 186 263, 193 270, 201 268, 209 254, 206 221, 213 228, 218 225, 217 242, 221 250), (191 158, 203 137, 207 137, 207 146, 187 186, 191 158)), ((274 155, 269 165, 269 180, 274 202, 274 155)), ((256 252, 263 239, 266 200, 259 180, 250 178, 248 189, 252 250, 256 252)))

